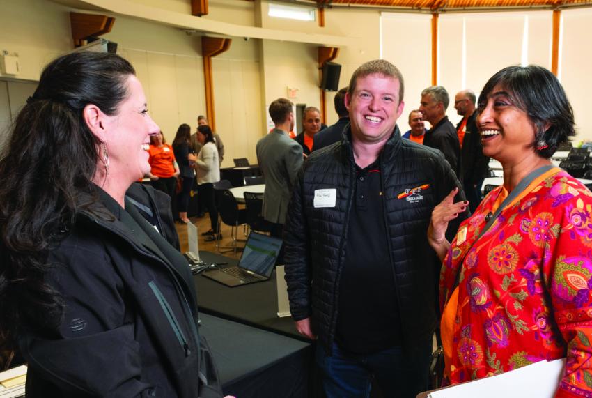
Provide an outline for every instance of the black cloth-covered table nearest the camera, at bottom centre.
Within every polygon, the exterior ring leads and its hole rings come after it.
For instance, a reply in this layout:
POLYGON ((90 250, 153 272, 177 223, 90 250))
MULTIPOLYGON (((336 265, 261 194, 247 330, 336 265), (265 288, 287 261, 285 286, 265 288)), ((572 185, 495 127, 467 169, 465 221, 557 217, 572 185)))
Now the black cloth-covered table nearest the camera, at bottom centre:
POLYGON ((311 344, 200 314, 225 395, 307 397, 311 344))

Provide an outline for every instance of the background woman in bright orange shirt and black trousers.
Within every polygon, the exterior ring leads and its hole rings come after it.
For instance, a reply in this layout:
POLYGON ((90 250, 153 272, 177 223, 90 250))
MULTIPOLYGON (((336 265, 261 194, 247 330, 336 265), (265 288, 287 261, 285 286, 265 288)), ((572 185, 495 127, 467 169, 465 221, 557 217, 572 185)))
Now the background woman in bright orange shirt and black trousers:
MULTIPOLYGON (((179 167, 175 160, 175 153, 169 144, 164 143, 162 131, 157 135, 150 136, 150 148, 148 148, 150 158, 150 181, 156 190, 160 190, 169 197, 175 196, 175 186, 179 167)), ((174 212, 173 212, 174 213, 174 212)))

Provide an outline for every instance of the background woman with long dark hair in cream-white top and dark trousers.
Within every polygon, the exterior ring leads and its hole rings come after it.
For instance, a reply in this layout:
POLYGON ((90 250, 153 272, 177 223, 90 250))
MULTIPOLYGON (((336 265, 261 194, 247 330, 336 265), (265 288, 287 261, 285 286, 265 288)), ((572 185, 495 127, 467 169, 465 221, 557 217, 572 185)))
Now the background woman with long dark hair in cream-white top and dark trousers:
POLYGON ((203 203, 210 213, 209 231, 205 232, 205 241, 211 242, 217 237, 218 231, 218 211, 214 197, 214 183, 220 181, 220 162, 218 160, 218 150, 212 129, 208 125, 200 125, 197 128, 197 139, 202 145, 197 157, 191 159, 195 161, 197 172, 198 194, 203 198, 203 203))

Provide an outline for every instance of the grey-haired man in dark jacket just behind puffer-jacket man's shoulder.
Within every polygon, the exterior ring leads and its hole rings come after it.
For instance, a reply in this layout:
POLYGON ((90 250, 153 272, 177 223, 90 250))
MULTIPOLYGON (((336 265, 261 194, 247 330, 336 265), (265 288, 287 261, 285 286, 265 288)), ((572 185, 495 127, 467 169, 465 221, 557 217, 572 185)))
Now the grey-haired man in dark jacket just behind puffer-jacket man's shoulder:
POLYGON ((419 110, 423 118, 430 122, 432 128, 423 137, 423 145, 439 149, 444 153, 456 176, 462 181, 462 161, 460 160, 460 145, 454 125, 446 116, 450 97, 442 86, 430 86, 421 91, 421 105, 419 110))

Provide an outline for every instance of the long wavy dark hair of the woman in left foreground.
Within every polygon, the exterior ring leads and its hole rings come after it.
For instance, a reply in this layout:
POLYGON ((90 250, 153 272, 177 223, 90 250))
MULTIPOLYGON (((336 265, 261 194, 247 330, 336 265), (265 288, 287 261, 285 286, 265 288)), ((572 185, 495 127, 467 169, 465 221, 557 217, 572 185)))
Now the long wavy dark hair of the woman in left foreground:
POLYGON ((0 337, 44 335, 61 323, 61 296, 45 282, 47 255, 96 199, 100 141, 83 110, 116 115, 134 68, 116 54, 77 52, 45 67, 0 155, 0 337))

